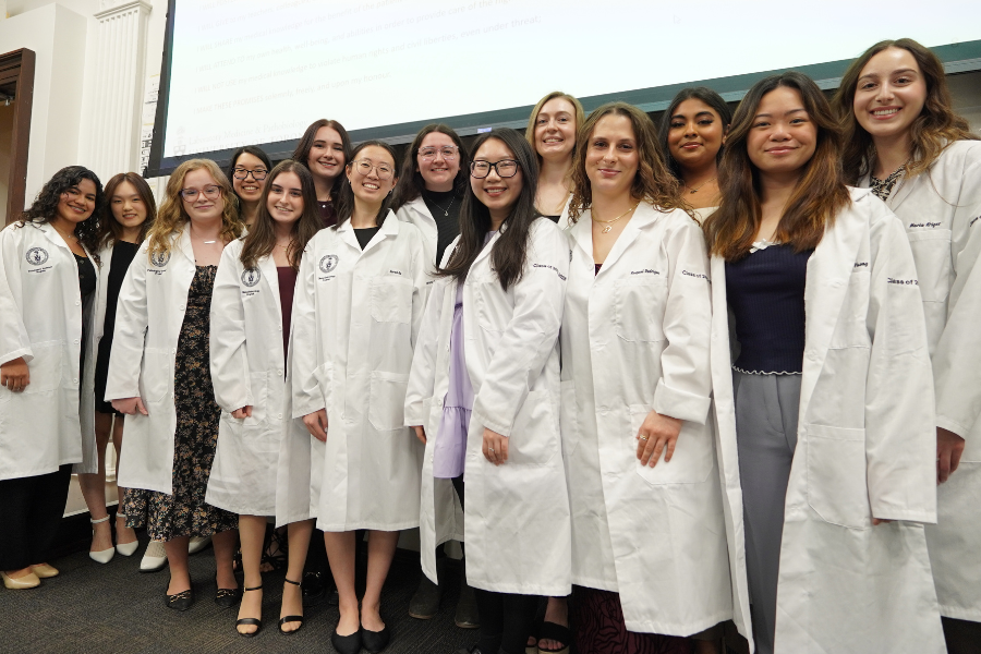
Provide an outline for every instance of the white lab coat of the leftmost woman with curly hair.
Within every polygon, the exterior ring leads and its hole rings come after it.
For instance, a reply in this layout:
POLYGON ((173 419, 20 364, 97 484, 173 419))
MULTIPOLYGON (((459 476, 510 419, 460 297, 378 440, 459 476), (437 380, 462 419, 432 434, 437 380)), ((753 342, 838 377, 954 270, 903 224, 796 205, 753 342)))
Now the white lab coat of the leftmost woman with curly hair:
POLYGON ((83 344, 78 265, 64 239, 50 222, 14 222, 0 231, 0 363, 23 356, 31 373, 22 392, 0 386, 0 480, 47 474, 65 463, 75 463, 74 472, 96 472, 98 286, 92 302, 83 344))

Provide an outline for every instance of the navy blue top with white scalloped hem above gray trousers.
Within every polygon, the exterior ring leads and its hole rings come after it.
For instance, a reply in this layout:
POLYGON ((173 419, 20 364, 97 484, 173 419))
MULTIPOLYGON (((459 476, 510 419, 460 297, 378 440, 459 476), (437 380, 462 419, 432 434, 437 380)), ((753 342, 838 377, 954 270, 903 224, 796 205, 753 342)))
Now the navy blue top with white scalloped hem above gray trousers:
POLYGON ((726 263, 726 296, 743 373, 800 374, 804 350, 804 284, 813 250, 771 245, 726 263))

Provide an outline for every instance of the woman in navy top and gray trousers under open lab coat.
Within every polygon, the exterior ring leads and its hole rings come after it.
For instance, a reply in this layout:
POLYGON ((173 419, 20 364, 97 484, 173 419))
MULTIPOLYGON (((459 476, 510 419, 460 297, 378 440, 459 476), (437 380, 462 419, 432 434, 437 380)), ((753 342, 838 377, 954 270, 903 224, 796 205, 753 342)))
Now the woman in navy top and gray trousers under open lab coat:
POLYGON ((761 654, 936 654, 927 330, 918 286, 892 283, 917 270, 896 217, 845 185, 841 136, 810 78, 756 83, 704 225, 734 589, 761 654))

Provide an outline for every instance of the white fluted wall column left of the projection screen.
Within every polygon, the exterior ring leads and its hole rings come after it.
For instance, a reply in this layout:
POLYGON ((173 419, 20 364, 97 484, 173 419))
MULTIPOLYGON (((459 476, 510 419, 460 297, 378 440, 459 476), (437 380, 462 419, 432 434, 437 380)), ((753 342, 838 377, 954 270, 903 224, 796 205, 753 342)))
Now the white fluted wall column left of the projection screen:
POLYGON ((88 143, 93 170, 108 180, 118 172, 136 171, 152 5, 145 0, 101 0, 99 5, 88 143))

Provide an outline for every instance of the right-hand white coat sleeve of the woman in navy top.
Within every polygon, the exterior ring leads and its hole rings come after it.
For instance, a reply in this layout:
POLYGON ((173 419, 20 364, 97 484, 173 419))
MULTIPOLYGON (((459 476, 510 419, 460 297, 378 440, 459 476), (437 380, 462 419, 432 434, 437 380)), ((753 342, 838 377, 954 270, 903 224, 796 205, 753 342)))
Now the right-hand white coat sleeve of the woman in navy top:
POLYGON ((874 518, 936 522, 933 374, 916 263, 899 219, 877 203, 865 326, 865 469, 874 518))

